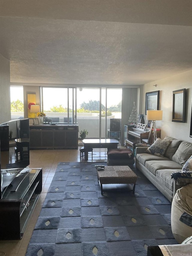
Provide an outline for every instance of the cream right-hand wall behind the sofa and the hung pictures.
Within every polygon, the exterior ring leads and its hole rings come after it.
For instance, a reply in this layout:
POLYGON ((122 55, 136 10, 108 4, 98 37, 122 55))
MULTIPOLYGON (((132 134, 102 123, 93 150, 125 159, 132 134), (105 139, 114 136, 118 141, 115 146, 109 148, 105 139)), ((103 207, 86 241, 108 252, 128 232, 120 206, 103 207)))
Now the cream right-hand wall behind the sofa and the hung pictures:
MULTIPOLYGON (((142 94, 142 112, 145 113, 145 94, 160 90, 160 110, 163 110, 163 120, 156 121, 157 128, 161 128, 161 138, 166 135, 174 138, 192 142, 189 137, 191 104, 192 104, 192 71, 184 72, 173 77, 156 80, 143 86, 142 94), (157 87, 153 86, 157 84, 157 87), (172 122, 173 110, 173 91, 186 89, 186 122, 172 122)), ((146 121, 146 116, 145 116, 146 121)))

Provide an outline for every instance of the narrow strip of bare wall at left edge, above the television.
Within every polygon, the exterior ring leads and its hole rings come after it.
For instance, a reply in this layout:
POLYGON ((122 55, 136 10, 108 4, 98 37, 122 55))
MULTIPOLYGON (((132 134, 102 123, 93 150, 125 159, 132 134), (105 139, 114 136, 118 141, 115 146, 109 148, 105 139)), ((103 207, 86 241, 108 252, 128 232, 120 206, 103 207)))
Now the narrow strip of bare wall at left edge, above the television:
POLYGON ((10 65, 0 54, 0 123, 11 119, 10 113, 10 65))

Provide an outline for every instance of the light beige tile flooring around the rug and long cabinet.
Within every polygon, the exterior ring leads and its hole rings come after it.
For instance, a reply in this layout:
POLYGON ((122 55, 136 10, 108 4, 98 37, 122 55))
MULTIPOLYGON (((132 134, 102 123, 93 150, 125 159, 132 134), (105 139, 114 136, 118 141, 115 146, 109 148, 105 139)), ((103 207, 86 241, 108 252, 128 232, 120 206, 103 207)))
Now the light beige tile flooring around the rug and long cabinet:
MULTIPOLYGON (((82 159, 82 161, 85 160, 82 159)), ((89 156, 88 161, 107 161, 107 149, 94 149, 93 160, 91 160, 89 156)), ((42 167, 43 170, 42 193, 23 238, 21 240, 1 240, 0 256, 25 256, 35 223, 55 174, 58 162, 80 162, 79 149, 30 150, 29 167, 42 167)))

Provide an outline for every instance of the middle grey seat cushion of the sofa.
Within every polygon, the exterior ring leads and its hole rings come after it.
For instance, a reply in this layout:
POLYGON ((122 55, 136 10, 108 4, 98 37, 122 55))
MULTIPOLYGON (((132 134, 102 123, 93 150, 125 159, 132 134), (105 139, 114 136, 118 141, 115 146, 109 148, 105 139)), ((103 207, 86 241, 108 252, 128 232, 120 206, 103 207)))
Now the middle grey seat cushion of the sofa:
MULTIPOLYGON (((157 170, 163 170, 163 169, 170 169, 172 170, 171 173, 173 173, 173 170, 182 170, 182 165, 173 162, 173 161, 167 161, 167 160, 163 160, 163 161, 146 161, 145 163, 145 167, 154 175, 156 175, 157 170)), ((171 176, 171 174, 170 174, 171 176)), ((171 179, 171 177, 170 177, 171 179)))

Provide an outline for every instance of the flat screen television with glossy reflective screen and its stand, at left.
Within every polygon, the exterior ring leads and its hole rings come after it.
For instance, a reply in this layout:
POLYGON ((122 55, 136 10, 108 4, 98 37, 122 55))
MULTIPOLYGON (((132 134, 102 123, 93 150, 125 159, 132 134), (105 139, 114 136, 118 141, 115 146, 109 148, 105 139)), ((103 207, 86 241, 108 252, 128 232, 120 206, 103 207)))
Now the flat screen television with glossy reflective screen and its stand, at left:
POLYGON ((0 198, 5 190, 18 187, 27 173, 18 175, 29 165, 29 119, 0 124, 0 198))

